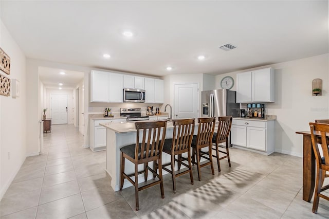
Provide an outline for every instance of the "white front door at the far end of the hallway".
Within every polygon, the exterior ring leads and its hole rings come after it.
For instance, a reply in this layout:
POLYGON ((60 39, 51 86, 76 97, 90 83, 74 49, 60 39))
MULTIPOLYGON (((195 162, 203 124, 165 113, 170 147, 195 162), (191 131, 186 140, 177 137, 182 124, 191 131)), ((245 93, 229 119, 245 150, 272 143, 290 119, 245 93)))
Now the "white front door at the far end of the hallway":
POLYGON ((51 95, 51 124, 67 124, 67 95, 51 95))

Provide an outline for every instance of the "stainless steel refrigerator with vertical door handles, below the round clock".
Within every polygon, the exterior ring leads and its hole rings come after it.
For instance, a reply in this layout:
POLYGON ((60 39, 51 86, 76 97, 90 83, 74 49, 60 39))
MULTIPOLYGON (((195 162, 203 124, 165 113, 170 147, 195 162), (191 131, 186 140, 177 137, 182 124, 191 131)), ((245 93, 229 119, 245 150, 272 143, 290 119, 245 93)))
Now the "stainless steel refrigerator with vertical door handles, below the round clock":
POLYGON ((240 103, 235 101, 235 91, 227 89, 201 92, 202 117, 239 117, 240 103))

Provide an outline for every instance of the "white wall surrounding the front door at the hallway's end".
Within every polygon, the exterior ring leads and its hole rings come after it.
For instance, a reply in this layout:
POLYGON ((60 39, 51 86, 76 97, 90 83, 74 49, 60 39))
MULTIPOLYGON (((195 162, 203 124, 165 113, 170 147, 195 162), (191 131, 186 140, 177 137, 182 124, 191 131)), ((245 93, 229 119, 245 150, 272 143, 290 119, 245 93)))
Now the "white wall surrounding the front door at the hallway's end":
MULTIPOLYGON (((51 95, 53 94, 61 94, 61 95, 67 95, 67 123, 68 124, 73 124, 74 123, 74 101, 73 101, 73 89, 51 89, 51 88, 46 88, 46 105, 45 108, 48 108, 46 111, 46 117, 51 118, 51 95)), ((42 118, 43 112, 41 114, 42 118)))

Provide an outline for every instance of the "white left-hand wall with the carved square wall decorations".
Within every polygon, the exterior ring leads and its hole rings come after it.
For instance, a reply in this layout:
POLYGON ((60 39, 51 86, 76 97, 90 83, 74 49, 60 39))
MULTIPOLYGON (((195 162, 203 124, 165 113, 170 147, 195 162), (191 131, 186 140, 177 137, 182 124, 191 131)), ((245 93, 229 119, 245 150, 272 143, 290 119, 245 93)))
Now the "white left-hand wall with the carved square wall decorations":
MULTIPOLYGON (((20 97, 0 95, 0 198, 2 198, 26 158, 26 130, 29 127, 26 121, 26 58, 2 21, 0 21, 0 30, 0 47, 10 57, 11 65, 10 75, 2 71, 0 74, 20 81, 20 97)), ((38 135, 36 137, 38 138, 38 135)))

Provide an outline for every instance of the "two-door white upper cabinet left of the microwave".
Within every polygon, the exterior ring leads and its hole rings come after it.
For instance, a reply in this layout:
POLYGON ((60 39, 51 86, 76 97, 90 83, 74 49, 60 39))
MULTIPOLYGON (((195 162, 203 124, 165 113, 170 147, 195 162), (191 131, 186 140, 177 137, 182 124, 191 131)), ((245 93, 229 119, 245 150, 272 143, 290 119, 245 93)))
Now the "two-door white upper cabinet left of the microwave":
POLYGON ((122 102, 123 75, 92 71, 90 102, 122 102))

